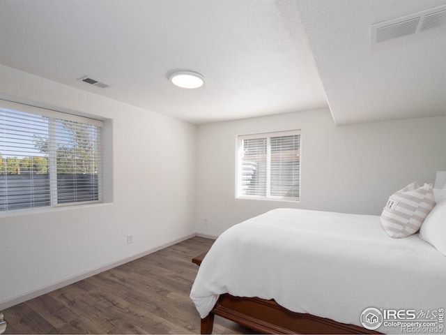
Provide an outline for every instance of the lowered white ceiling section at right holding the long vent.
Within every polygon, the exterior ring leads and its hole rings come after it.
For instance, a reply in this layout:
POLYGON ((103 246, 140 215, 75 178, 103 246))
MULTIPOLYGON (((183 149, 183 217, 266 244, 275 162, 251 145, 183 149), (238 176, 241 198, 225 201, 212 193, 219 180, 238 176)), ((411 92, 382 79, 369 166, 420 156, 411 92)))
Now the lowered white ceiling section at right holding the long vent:
POLYGON ((446 115, 446 28, 370 47, 370 26, 445 0, 297 0, 334 121, 446 115))

